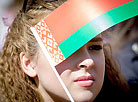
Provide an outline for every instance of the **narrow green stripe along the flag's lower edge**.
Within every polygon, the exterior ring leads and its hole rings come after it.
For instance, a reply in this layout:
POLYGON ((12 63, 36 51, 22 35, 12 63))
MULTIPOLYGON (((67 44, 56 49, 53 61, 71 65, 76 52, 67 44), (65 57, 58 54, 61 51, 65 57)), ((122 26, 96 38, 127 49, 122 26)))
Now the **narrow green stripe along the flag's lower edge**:
POLYGON ((59 48, 61 49, 64 57, 68 58, 89 40, 104 30, 136 15, 138 15, 138 0, 133 0, 104 13, 84 25, 69 38, 64 40, 59 45, 59 48))

